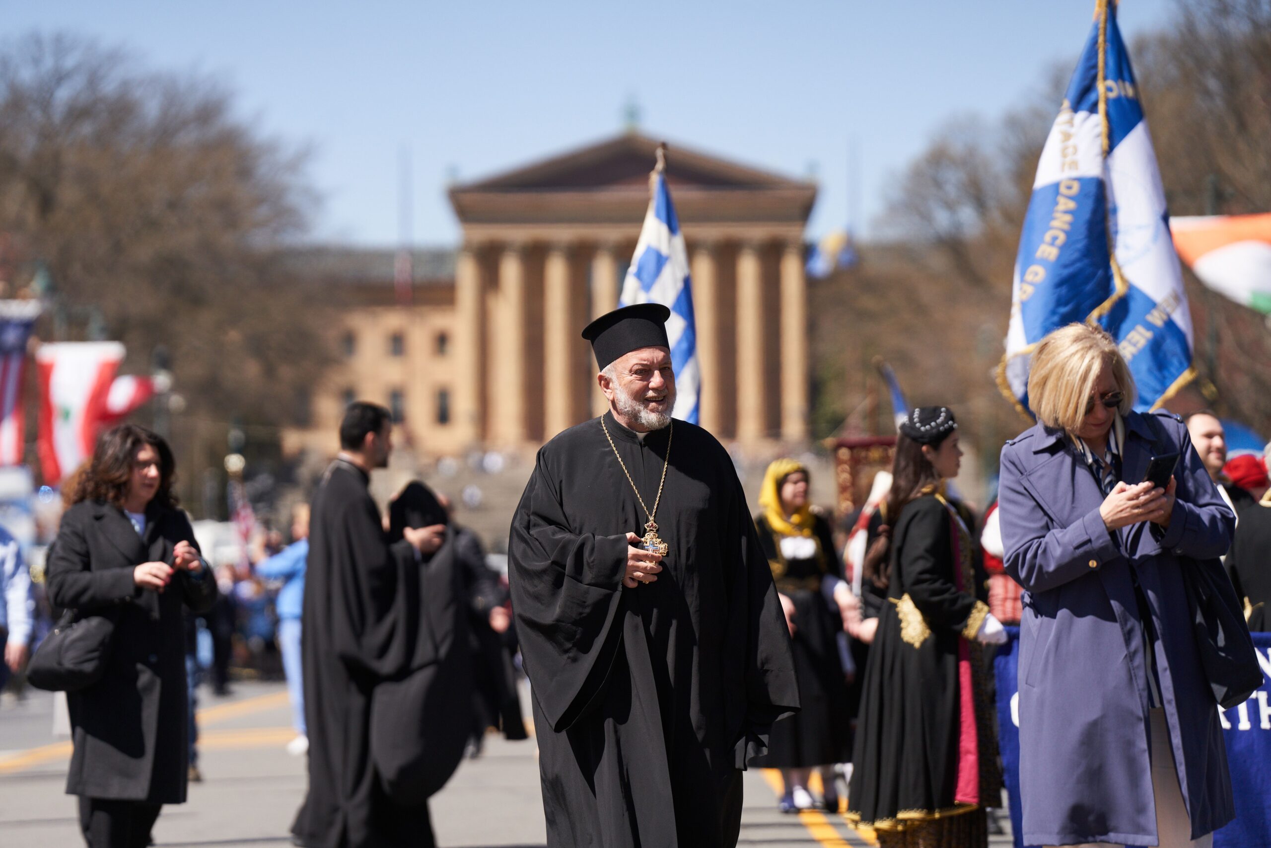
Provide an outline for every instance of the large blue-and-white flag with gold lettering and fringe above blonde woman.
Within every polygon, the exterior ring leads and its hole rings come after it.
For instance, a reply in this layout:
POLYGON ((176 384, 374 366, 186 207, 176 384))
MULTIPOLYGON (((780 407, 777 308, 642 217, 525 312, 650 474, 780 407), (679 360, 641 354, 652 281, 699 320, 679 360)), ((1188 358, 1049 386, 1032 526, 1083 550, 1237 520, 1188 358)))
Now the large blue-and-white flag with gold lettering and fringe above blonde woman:
POLYGON ((1191 313, 1157 156, 1107 0, 1099 0, 1037 163, 1019 239, 998 381, 1021 411, 1033 348, 1046 333, 1082 320, 1117 339, 1139 409, 1160 406, 1195 376, 1191 313))

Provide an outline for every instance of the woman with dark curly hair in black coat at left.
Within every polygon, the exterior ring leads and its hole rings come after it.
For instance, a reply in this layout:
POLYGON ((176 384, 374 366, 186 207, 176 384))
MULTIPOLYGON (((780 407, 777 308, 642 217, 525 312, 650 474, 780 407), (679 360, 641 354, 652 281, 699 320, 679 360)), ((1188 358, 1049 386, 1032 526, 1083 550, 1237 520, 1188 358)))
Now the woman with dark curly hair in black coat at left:
POLYGON ((121 425, 98 439, 48 563, 57 606, 114 620, 105 674, 67 693, 66 792, 80 796, 92 848, 140 848, 164 804, 186 801, 182 604, 203 612, 216 581, 172 492, 175 463, 156 434, 121 425))

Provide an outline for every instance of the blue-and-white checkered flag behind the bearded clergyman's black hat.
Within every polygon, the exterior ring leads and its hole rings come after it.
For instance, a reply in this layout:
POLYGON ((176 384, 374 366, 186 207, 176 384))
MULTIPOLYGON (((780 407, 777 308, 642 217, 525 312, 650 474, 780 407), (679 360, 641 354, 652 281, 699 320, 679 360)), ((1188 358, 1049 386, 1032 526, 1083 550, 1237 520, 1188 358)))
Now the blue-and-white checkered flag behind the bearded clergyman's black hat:
POLYGON ((644 226, 636 243, 619 306, 656 303, 670 308, 666 336, 671 342, 675 369, 676 418, 698 423, 698 397, 702 373, 698 370, 698 333, 693 323, 693 286, 689 280, 689 252, 684 233, 671 205, 671 191, 661 170, 653 174, 653 197, 644 214, 644 226))

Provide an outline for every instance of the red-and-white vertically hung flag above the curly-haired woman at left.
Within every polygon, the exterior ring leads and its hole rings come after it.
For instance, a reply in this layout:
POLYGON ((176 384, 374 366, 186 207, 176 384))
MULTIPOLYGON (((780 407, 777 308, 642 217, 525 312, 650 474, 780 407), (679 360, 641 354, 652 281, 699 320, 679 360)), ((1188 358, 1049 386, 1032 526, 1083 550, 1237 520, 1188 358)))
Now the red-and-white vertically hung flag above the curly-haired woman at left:
POLYGON ((93 455, 122 361, 119 342, 58 342, 36 351, 39 464, 47 484, 60 484, 93 455))

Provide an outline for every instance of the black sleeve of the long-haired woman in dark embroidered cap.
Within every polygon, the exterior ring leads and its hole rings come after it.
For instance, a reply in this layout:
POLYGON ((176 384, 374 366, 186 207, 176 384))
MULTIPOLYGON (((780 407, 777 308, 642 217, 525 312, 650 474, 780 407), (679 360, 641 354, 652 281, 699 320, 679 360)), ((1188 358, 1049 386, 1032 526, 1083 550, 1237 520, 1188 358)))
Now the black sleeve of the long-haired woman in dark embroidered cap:
POLYGON ((905 507, 897 539, 896 567, 914 606, 933 631, 962 632, 976 598, 953 582, 953 539, 949 514, 934 497, 905 507))

